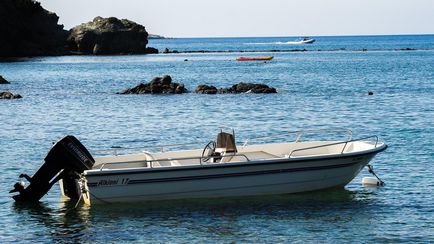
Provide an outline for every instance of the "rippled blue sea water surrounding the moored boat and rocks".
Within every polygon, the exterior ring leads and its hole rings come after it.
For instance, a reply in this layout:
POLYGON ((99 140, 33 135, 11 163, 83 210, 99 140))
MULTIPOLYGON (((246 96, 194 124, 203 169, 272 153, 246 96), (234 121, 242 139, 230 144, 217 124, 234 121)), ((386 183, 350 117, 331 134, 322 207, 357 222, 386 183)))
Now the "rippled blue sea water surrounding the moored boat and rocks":
POLYGON ((293 39, 169 39, 151 40, 150 46, 311 51, 0 63, 0 75, 12 83, 0 90, 23 96, 0 100, 0 242, 433 242, 434 36, 317 37, 310 46, 276 44, 293 39), (417 50, 396 51, 407 47, 417 50), (241 55, 274 59, 234 61, 241 55), (260 82, 279 93, 116 95, 164 74, 190 91, 199 84, 260 82), (377 134, 390 147, 372 165, 387 185, 363 187, 361 178, 369 176, 364 170, 345 189, 325 192, 91 208, 74 208, 75 201, 61 199, 57 186, 33 206, 15 204, 8 194, 18 175, 35 172, 51 143, 67 134, 91 151, 205 145, 221 125, 234 127, 238 141, 302 129, 377 134))

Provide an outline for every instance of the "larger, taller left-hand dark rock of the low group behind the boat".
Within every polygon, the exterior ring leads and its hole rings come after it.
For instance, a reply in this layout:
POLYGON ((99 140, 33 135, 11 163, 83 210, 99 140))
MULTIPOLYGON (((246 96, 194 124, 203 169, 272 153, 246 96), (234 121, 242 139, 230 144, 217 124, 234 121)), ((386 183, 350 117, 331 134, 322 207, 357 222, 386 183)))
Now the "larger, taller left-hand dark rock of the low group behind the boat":
POLYGON ((118 94, 181 94, 188 92, 184 84, 172 82, 172 77, 165 75, 155 77, 149 83, 139 83, 133 88, 126 89, 118 94))

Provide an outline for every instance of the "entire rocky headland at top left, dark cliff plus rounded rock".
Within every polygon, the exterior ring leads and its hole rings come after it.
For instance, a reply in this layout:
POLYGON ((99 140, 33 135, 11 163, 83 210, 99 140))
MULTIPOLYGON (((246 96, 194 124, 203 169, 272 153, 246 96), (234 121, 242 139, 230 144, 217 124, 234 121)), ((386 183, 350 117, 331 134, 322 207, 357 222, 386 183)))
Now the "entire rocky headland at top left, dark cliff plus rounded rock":
POLYGON ((37 1, 1 0, 0 58, 158 53, 146 47, 145 27, 127 19, 96 17, 69 31, 58 21, 37 1))

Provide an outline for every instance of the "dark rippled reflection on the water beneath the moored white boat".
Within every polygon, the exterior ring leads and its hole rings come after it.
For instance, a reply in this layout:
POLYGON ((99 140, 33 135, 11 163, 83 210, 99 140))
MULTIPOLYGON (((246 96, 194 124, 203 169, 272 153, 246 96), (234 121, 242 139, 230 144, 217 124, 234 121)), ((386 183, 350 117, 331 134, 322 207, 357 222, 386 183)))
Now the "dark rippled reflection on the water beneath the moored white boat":
POLYGON ((288 225, 290 222, 303 225, 316 219, 343 224, 350 222, 353 215, 369 215, 372 194, 375 192, 339 188, 288 195, 77 207, 76 201, 64 199, 59 206, 15 203, 13 208, 19 222, 33 226, 37 230, 34 235, 50 242, 139 241, 142 238, 160 242, 174 241, 173 236, 182 233, 199 237, 196 240, 212 237, 247 241, 253 238, 251 232, 260 233, 267 226, 287 231, 286 228, 298 228, 288 225))

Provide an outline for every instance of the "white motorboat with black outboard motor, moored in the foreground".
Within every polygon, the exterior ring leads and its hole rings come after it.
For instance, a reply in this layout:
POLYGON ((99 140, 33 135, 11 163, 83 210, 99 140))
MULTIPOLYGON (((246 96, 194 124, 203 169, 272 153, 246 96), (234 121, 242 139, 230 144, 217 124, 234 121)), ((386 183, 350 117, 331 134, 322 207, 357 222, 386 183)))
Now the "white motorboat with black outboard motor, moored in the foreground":
MULTIPOLYGON (((235 133, 220 132, 202 149, 110 149, 95 159, 73 136, 57 142, 27 188, 15 184, 17 201, 39 201, 60 180, 62 194, 87 204, 186 198, 254 196, 314 191, 348 184, 387 145, 377 136, 345 140, 301 141, 306 134, 342 130, 287 132, 292 141, 242 145, 235 133), (142 150, 119 154, 120 151, 142 150)), ((203 143, 202 145, 204 145, 203 143)))

